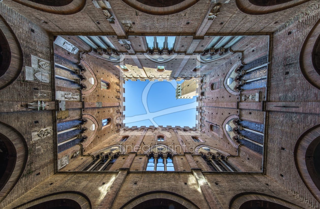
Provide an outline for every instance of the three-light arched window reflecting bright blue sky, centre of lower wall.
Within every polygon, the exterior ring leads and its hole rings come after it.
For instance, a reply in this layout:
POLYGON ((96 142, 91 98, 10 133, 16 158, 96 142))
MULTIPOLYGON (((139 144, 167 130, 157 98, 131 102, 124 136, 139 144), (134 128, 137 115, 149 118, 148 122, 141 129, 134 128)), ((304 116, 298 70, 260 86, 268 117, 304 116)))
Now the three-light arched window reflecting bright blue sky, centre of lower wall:
POLYGON ((174 171, 172 155, 159 154, 148 157, 147 171, 174 171))

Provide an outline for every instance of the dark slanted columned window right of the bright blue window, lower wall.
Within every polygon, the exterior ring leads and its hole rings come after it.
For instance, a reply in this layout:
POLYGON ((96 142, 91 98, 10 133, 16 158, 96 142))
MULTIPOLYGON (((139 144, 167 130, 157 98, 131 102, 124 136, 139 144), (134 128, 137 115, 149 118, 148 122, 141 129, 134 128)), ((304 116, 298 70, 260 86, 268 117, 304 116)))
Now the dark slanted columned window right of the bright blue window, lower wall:
POLYGON ((207 163, 212 171, 218 172, 237 172, 236 168, 234 168, 227 160, 225 156, 207 156, 201 153, 201 157, 207 163))

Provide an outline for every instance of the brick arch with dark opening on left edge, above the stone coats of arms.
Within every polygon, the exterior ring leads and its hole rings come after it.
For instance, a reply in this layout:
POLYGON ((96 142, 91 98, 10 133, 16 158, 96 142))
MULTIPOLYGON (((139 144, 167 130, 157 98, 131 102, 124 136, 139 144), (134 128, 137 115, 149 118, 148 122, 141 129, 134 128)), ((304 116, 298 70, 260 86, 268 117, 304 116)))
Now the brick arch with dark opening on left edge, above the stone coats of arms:
POLYGON ((20 75, 23 54, 16 35, 1 15, 0 28, 0 89, 4 89, 20 75))

